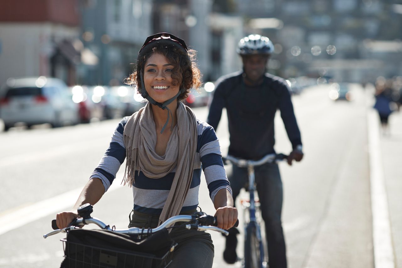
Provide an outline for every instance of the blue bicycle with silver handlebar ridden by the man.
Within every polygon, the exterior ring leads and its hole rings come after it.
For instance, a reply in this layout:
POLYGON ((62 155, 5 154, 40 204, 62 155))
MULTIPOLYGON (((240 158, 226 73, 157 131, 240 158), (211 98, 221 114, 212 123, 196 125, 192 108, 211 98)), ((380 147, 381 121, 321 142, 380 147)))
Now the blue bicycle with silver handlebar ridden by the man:
MULTIPOLYGON (((260 160, 245 160, 228 155, 224 157, 224 163, 232 162, 238 167, 247 168, 248 171, 248 192, 250 194, 249 201, 242 201, 244 212, 248 212, 248 221, 244 222, 245 239, 244 239, 244 268, 264 268, 266 266, 264 242, 261 234, 260 219, 257 217, 259 209, 259 201, 255 200, 255 175, 254 167, 265 163, 273 163, 287 159, 284 154, 269 154, 260 160)), ((246 215, 245 215, 246 216, 246 215)), ((244 217, 246 219, 246 217, 244 217)))

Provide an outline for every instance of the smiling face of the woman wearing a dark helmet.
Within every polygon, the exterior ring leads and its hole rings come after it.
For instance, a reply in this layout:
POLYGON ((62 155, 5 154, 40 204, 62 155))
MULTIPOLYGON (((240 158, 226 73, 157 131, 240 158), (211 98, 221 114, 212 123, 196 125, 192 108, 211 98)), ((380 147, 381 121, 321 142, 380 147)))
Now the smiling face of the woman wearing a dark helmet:
POLYGON ((178 93, 181 81, 172 85, 173 68, 165 56, 159 53, 152 54, 145 62, 145 89, 155 101, 163 103, 178 93))

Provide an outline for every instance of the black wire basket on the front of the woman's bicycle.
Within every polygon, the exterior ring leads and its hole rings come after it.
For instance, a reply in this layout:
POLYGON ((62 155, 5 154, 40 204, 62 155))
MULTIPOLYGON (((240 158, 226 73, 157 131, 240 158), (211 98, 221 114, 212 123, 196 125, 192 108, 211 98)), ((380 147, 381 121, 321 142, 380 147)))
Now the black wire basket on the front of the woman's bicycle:
POLYGON ((160 256, 129 250, 111 250, 61 239, 64 260, 61 268, 164 268, 172 261, 177 243, 166 248, 160 256))

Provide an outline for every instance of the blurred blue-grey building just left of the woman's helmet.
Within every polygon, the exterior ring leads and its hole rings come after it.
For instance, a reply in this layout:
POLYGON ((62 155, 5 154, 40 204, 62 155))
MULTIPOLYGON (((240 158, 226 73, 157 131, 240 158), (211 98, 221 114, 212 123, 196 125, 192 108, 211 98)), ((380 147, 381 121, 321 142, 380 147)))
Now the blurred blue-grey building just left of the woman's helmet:
POLYGON ((81 65, 77 82, 86 85, 120 85, 133 71, 131 63, 152 33, 152 1, 84 0, 80 4, 80 39, 99 59, 81 65))

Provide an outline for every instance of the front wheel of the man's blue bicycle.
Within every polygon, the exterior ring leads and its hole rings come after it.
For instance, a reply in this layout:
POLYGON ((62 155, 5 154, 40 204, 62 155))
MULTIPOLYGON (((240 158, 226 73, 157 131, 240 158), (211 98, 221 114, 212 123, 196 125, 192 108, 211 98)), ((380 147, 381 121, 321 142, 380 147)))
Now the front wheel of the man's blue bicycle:
POLYGON ((244 268, 263 268, 261 241, 257 237, 257 227, 250 223, 246 228, 244 241, 244 268))

